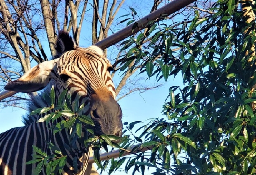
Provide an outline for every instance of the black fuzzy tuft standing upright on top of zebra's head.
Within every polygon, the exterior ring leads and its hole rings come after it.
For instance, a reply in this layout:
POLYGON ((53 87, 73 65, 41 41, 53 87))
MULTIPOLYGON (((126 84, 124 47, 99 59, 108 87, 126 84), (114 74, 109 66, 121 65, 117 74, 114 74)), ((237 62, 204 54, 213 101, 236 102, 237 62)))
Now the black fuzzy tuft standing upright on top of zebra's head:
POLYGON ((54 58, 59 58, 64 52, 74 50, 75 48, 77 48, 77 44, 69 33, 64 30, 59 31, 55 44, 56 54, 54 55, 54 58))

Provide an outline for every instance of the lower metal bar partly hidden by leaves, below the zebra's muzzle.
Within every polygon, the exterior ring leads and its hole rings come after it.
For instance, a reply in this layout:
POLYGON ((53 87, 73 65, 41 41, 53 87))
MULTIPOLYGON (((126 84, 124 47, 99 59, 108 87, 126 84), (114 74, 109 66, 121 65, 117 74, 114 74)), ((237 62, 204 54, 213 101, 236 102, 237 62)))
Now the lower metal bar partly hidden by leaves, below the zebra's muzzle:
MULTIPOLYGON (((145 152, 145 151, 148 151, 151 149, 152 149, 152 147, 141 147, 141 145, 138 144, 138 145, 128 147, 126 149, 126 151, 124 152, 124 154, 122 154, 122 156, 131 155, 132 153, 145 152), (133 152, 131 152, 131 150, 134 149, 135 147, 138 147, 138 148, 136 150, 134 150, 133 152)), ((121 150, 124 150, 124 149, 121 149, 121 150)), ((120 150, 114 150, 112 152, 102 153, 102 154, 100 154, 100 160, 104 161, 104 160, 108 160, 111 158, 119 158, 119 153, 120 153, 120 150)), ((90 157, 89 163, 93 163, 93 162, 94 162, 93 157, 90 157)))

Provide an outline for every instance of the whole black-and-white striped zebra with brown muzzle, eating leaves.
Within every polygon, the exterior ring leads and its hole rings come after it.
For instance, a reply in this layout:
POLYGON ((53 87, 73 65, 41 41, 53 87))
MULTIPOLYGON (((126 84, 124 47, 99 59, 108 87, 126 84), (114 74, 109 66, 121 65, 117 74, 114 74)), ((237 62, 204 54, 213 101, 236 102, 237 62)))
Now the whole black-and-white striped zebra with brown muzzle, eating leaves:
MULTIPOLYGON (((59 31, 55 44, 56 55, 52 60, 39 63, 24 73, 19 79, 7 83, 5 90, 31 93, 42 90, 41 94, 49 94, 54 86, 56 101, 60 94, 67 89, 71 104, 79 98, 79 105, 84 115, 94 121, 94 130, 98 134, 122 135, 122 111, 115 100, 115 87, 110 71, 113 69, 110 61, 97 46, 88 48, 78 47, 66 31, 59 31)), ((29 112, 37 108, 49 106, 42 95, 31 97, 29 112)), ((26 162, 32 160, 32 145, 48 154, 52 151, 47 147, 47 141, 58 147, 62 154, 68 155, 61 174, 85 174, 89 159, 89 148, 76 141, 79 153, 73 153, 65 148, 69 143, 69 130, 52 134, 50 122, 38 122, 41 115, 23 118, 27 125, 12 128, 0 134, 0 174, 1 175, 31 175, 35 174, 36 164, 26 162), (76 155, 75 155, 76 154, 76 155), (78 158, 78 172, 73 167, 73 159, 78 158)), ((64 116, 57 121, 65 119, 64 116)), ((55 121, 56 122, 56 121, 55 121)), ((84 128, 83 128, 84 129, 84 128)), ((46 174, 46 168, 41 174, 46 174)))

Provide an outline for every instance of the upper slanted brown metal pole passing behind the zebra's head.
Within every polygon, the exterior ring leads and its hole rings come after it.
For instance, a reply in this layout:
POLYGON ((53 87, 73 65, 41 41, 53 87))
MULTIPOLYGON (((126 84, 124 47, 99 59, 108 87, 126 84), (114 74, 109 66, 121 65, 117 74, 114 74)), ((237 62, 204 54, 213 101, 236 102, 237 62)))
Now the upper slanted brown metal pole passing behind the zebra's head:
MULTIPOLYGON (((169 2, 168 4, 164 5, 160 9, 148 14, 144 18, 141 18, 140 20, 136 21, 137 27, 132 31, 133 24, 128 25, 127 27, 123 28, 122 30, 118 31, 117 33, 114 33, 110 35, 109 37, 102 39, 95 45, 100 47, 101 49, 106 49, 114 44, 117 44, 118 42, 122 41, 123 39, 137 33, 138 31, 144 29, 147 27, 147 24, 149 21, 154 21, 158 18, 160 18, 162 15, 170 15, 174 12, 186 7, 188 4, 191 4, 196 0, 173 0, 169 2)), ((0 93, 0 101, 4 98, 10 97, 17 92, 13 91, 3 91, 0 93)))

